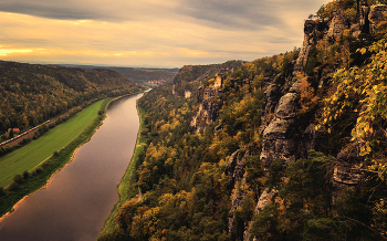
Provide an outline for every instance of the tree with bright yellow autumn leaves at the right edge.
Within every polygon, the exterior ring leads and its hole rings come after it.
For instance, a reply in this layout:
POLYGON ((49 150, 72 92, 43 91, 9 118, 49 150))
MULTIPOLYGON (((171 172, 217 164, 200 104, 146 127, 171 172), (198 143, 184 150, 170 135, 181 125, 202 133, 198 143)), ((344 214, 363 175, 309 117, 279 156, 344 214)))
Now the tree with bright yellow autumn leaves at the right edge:
MULTIPOLYGON (((387 35, 368 48, 358 50, 362 54, 374 53, 369 64, 363 67, 338 70, 333 78, 337 85, 336 92, 325 99, 322 124, 330 124, 346 111, 358 113, 356 125, 352 130, 352 142, 364 143, 359 155, 373 159, 370 169, 379 171, 381 179, 387 177, 387 160, 385 154, 375 158, 370 156, 378 145, 374 127, 387 120, 387 35), (354 105, 359 103, 359 105, 354 105), (357 108, 356 108, 357 107, 357 108), (359 108, 358 108, 359 107, 359 108)), ((330 128, 328 128, 330 132, 330 128)))

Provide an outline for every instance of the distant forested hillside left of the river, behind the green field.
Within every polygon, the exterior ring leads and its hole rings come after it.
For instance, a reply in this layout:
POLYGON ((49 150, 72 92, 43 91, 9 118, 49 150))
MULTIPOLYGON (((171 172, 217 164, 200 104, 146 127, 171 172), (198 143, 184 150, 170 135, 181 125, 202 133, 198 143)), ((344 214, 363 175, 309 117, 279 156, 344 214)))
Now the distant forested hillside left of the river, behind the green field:
POLYGON ((109 70, 0 62, 1 137, 10 137, 9 128, 27 130, 86 101, 140 90, 109 70))

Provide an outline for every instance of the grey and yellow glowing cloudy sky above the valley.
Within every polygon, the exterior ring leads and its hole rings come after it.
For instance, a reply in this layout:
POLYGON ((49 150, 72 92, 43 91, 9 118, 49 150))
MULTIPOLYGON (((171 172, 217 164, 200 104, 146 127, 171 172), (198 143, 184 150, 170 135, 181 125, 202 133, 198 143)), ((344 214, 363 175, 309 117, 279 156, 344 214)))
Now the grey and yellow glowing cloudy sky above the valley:
POLYGON ((0 60, 177 66, 301 46, 328 0, 0 0, 0 60))

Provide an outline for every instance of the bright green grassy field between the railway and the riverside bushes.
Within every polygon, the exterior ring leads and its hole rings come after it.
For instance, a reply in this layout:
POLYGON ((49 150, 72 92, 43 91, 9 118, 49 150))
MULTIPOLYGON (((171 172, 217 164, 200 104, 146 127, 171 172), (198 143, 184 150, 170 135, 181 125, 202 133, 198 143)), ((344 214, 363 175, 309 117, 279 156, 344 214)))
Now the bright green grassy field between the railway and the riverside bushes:
POLYGON ((96 102, 41 138, 0 158, 0 187, 13 181, 14 175, 32 170, 79 136, 98 115, 103 101, 96 102))

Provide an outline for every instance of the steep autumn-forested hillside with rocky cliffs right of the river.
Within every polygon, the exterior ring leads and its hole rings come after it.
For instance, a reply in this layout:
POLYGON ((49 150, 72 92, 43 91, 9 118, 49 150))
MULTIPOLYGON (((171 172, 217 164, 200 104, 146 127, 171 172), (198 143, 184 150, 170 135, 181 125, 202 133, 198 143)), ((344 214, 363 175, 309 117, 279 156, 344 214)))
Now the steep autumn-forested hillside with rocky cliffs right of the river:
POLYGON ((379 3, 328 2, 305 21, 301 51, 187 66, 145 94, 138 196, 100 240, 386 240, 379 3))

